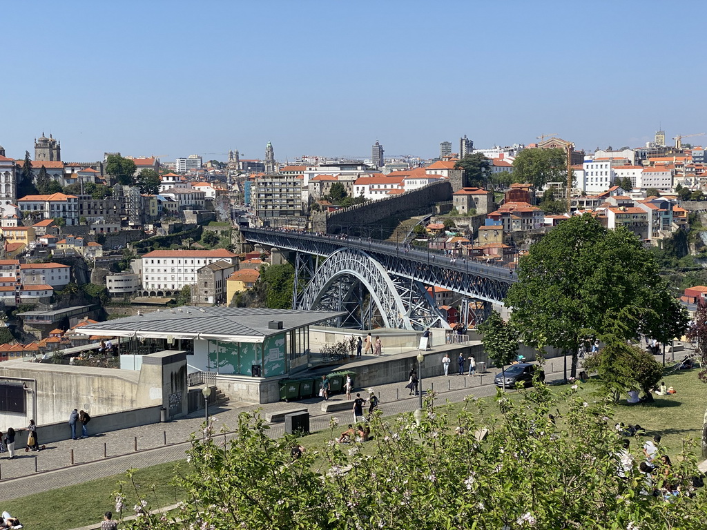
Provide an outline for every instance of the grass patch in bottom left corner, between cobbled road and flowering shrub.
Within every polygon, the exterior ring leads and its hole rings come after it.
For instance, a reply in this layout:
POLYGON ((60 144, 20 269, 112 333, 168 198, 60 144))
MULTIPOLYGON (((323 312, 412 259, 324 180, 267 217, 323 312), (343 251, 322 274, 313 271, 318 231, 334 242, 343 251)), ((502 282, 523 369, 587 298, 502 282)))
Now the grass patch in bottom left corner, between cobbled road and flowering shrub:
MULTIPOLYGON (((181 500, 180 492, 170 485, 175 464, 169 462, 136 471, 136 483, 143 485, 143 493, 151 507, 169 506, 181 500), (152 485, 155 485, 154 493, 148 494, 144 491, 144 488, 152 485)), ((28 529, 74 529, 78 526, 100 523, 104 512, 114 511, 113 492, 118 488, 118 481, 125 480, 127 478, 124 474, 98 478, 83 484, 6 500, 2 502, 1 508, 18 517, 23 526, 28 529)), ((131 487, 131 485, 124 486, 126 490, 131 487)), ((132 510, 132 506, 127 509, 132 510)), ((117 519, 117 514, 114 514, 113 518, 117 519)))

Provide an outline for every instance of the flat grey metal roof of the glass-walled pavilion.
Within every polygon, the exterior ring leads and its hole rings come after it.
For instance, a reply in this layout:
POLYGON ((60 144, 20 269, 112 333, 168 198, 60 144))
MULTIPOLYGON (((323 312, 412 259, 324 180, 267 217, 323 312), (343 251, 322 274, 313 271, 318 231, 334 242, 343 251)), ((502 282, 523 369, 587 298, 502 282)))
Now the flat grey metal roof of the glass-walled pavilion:
POLYGON ((193 307, 157 310, 134 317, 89 324, 76 329, 84 335, 134 338, 211 339, 261 343, 271 335, 311 326, 345 314, 329 311, 275 310, 254 307, 193 307), (282 322, 270 329, 270 321, 282 322))

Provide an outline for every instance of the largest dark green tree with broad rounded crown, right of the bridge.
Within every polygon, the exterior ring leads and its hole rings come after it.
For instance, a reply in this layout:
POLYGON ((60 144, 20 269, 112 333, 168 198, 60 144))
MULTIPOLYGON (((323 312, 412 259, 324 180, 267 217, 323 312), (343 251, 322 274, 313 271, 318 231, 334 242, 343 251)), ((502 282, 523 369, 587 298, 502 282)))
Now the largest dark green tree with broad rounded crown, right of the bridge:
POLYGON ((638 237, 607 230, 589 214, 560 223, 530 247, 505 303, 527 343, 571 353, 573 377, 590 334, 658 337, 662 327, 676 331, 687 322, 638 237))

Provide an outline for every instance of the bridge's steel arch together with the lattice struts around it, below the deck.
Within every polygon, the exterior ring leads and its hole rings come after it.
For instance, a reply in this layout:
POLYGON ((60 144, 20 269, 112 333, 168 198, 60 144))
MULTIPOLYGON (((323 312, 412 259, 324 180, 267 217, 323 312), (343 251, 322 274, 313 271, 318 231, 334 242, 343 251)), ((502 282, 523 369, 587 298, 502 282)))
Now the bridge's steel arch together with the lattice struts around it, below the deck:
POLYGON ((378 309, 385 327, 448 326, 421 283, 390 276, 378 261, 358 249, 338 249, 325 259, 303 291, 298 309, 346 311, 344 320, 364 329, 364 315, 370 310, 364 306, 360 285, 370 294, 369 303, 378 309))

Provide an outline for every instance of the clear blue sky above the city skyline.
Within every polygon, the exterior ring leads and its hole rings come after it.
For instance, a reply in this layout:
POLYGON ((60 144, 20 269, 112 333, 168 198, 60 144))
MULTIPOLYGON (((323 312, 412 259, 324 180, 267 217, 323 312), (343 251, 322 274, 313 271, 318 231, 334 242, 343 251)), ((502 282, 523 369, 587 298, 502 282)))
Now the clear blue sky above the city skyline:
MULTIPOLYGON (((262 158, 707 132, 707 4, 33 1, 0 7, 0 144, 262 158), (217 153, 210 155, 208 153, 217 153)), ((690 141, 686 139, 686 141, 690 141)), ((707 143, 707 137, 694 139, 707 143)))

